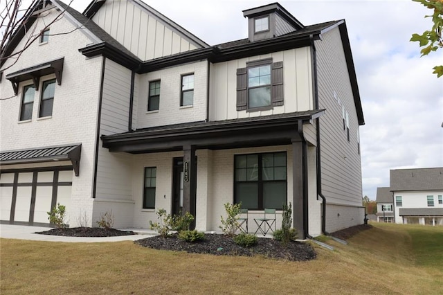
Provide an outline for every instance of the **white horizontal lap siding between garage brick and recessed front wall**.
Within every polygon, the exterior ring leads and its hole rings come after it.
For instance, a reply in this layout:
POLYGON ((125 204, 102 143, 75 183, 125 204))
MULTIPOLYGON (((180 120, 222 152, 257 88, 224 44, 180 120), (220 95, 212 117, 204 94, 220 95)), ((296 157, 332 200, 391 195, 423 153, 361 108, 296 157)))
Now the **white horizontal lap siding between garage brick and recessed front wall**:
MULTIPOLYGON (((105 61, 102 89, 100 136, 128 131, 131 71, 111 60, 105 61)), ((96 199, 132 199, 130 155, 111 153, 98 143, 96 199)), ((114 213, 115 215, 115 213, 114 213)), ((118 219, 118 217, 116 216, 118 219)))

